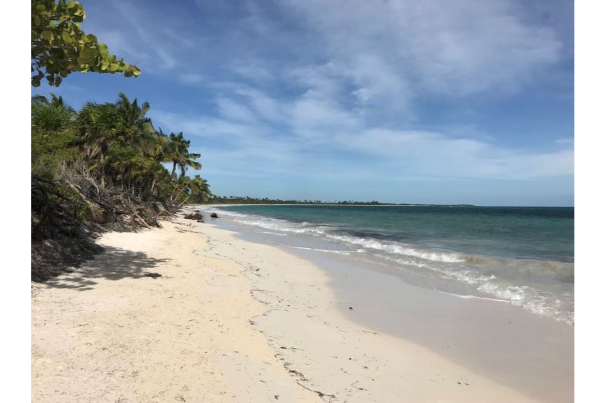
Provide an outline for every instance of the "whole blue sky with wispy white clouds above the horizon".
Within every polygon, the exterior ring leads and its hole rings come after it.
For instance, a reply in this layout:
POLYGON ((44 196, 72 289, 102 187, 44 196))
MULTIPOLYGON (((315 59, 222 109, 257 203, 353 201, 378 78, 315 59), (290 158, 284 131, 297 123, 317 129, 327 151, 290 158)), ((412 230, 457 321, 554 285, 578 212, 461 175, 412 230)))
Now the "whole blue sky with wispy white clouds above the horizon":
POLYGON ((33 93, 148 101, 216 195, 574 205, 573 1, 82 3, 143 73, 33 93))

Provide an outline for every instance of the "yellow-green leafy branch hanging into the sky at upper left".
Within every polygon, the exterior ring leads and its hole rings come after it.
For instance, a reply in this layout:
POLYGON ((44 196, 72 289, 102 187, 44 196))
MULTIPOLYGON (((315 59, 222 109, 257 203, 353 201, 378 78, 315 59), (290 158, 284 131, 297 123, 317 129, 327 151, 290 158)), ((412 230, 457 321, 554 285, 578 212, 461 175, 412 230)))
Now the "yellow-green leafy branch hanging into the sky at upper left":
POLYGON ((96 36, 82 31, 85 18, 77 1, 31 1, 31 85, 37 87, 46 78, 49 85, 59 86, 73 71, 139 76, 137 66, 117 59, 96 36))

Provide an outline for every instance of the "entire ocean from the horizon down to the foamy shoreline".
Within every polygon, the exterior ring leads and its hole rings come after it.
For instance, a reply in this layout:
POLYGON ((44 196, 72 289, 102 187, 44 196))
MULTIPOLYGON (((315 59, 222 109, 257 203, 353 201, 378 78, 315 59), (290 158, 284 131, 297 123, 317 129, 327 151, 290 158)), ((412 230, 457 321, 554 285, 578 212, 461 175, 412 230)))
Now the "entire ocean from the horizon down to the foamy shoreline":
POLYGON ((210 210, 283 237, 284 246, 463 283, 476 295, 574 323, 573 207, 221 205, 210 210), (321 242, 292 242, 300 237, 321 242))

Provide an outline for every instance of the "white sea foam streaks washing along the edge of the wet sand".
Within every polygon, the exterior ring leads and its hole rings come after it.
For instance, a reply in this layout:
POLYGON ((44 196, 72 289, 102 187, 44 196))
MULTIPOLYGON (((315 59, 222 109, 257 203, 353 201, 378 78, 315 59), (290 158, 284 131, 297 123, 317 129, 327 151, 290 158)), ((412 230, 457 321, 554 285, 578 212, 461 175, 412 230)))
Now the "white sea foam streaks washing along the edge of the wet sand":
POLYGON ((212 207, 209 208, 208 211, 217 211, 226 217, 231 217, 239 224, 252 225, 270 231, 260 231, 261 233, 281 236, 286 236, 287 234, 321 236, 354 249, 347 251, 327 250, 284 245, 290 248, 338 254, 368 252, 380 259, 394 262, 397 264, 397 267, 402 269, 410 268, 410 270, 415 270, 416 272, 420 270, 420 273, 423 274, 445 277, 446 279, 453 279, 477 286, 478 291, 494 298, 457 294, 456 297, 505 301, 512 303, 512 305, 521 306, 535 314, 545 315, 568 324, 574 324, 572 296, 568 298, 568 301, 561 301, 557 299, 557 295, 539 291, 531 286, 514 285, 511 284, 510 281, 505 282, 495 276, 492 272, 489 272, 490 270, 498 272, 504 269, 509 270, 509 272, 519 270, 528 271, 531 268, 530 266, 523 266, 522 268, 517 267, 516 263, 511 266, 502 259, 468 256, 454 252, 431 251, 401 242, 335 233, 333 227, 315 225, 309 222, 296 223, 283 219, 267 218, 255 214, 244 214, 212 207), (486 268, 488 272, 485 272, 486 268))

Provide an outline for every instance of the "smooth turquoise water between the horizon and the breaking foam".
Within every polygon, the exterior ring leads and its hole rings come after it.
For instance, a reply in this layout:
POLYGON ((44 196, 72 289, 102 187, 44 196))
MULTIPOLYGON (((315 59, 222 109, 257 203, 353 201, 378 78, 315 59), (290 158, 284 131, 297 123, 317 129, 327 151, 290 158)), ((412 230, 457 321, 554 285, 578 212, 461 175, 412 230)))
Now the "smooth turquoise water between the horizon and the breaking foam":
POLYGON ((573 207, 242 205, 226 210, 486 256, 574 261, 573 207))

